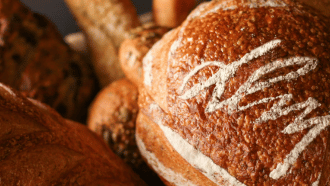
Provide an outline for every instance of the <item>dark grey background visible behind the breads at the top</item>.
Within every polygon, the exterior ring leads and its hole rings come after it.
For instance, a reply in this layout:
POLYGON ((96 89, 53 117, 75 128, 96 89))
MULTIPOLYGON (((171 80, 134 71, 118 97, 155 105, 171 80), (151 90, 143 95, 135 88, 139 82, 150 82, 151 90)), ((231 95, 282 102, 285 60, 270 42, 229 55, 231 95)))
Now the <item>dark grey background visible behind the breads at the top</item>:
MULTIPOLYGON (((131 1, 138 14, 151 11, 152 0, 131 1)), ((21 0, 21 2, 30 7, 33 11, 46 15, 56 24, 63 36, 79 31, 79 28, 64 0, 21 0)))

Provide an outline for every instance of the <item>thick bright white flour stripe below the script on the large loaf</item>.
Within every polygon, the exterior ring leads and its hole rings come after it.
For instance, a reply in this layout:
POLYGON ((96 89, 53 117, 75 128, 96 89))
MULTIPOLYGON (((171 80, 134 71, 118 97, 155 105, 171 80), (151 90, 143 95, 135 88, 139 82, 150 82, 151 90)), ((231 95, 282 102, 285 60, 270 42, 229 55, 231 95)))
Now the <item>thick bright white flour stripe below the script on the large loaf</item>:
MULTIPOLYGON (((149 111, 153 112, 156 109, 161 109, 157 104, 150 104, 149 111)), ((215 164, 211 158, 205 156, 202 152, 195 149, 185 139, 183 139, 178 133, 174 132, 171 128, 162 124, 162 120, 159 118, 155 121, 156 124, 164 132, 165 137, 172 145, 172 147, 193 167, 200 170, 207 178, 214 183, 220 184, 219 180, 224 180, 226 186, 246 186, 241 183, 235 177, 230 175, 225 169, 215 164), (220 175, 220 179, 217 177, 220 175)))

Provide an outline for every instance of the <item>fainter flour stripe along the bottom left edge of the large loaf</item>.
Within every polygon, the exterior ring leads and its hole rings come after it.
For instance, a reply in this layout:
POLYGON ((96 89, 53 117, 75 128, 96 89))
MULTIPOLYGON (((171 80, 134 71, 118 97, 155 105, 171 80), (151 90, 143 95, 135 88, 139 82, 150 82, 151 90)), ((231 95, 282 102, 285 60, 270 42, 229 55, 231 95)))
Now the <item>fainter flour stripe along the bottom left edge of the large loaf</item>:
POLYGON ((140 153, 146 158, 148 164, 151 165, 152 168, 168 182, 177 186, 196 186, 194 183, 184 178, 181 174, 165 167, 152 152, 147 150, 138 134, 136 134, 136 143, 139 147, 140 153))

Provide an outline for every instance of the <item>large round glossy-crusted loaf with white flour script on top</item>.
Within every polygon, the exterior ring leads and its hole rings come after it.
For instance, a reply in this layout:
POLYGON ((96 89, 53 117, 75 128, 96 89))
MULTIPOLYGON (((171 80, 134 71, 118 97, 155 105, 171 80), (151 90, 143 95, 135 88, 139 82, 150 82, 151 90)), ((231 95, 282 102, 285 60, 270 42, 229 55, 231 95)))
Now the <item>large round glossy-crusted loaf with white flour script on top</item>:
POLYGON ((136 141, 167 185, 330 185, 330 26, 291 0, 203 3, 143 60, 136 141))

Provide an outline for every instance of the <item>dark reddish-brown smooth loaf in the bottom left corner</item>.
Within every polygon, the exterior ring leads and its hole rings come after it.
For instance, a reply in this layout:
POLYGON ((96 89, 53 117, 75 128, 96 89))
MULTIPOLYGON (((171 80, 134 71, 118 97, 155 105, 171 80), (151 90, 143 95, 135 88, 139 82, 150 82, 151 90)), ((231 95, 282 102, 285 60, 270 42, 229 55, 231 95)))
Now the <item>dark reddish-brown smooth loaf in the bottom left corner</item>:
POLYGON ((3 84, 0 98, 0 185, 145 185, 86 126, 3 84))

